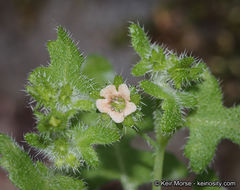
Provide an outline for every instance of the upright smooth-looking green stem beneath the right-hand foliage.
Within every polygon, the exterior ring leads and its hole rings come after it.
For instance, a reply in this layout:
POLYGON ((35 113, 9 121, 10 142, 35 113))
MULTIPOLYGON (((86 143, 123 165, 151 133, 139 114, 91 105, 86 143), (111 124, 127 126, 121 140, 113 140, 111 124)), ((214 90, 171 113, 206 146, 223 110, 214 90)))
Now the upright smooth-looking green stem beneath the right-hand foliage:
POLYGON ((162 173, 163 173, 163 162, 164 162, 164 155, 165 155, 165 148, 167 146, 169 136, 163 136, 160 131, 156 134, 156 140, 158 146, 155 148, 155 161, 154 161, 154 168, 153 168, 153 190, 161 190, 161 186, 154 185, 154 182, 157 180, 161 182, 162 180, 162 173))

